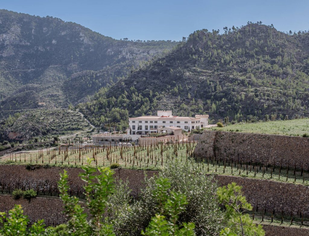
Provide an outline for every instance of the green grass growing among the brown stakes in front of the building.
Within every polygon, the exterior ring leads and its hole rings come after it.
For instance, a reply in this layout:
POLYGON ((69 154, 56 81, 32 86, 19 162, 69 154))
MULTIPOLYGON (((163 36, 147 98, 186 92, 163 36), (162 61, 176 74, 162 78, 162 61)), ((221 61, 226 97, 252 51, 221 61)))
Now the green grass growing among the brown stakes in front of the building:
MULTIPOLYGON (((143 170, 158 170, 165 164, 171 162, 185 162, 190 160, 191 151, 194 150, 196 143, 180 143, 174 145, 158 145, 158 146, 148 146, 147 155, 147 147, 139 147, 136 149, 136 155, 134 156, 133 147, 123 148, 122 149, 122 158, 121 158, 121 150, 120 147, 112 147, 109 148, 109 155, 107 156, 106 147, 103 149, 100 148, 100 151, 96 154, 96 158, 93 159, 94 150, 89 147, 87 152, 81 153, 81 157, 79 158, 78 146, 75 146, 75 149, 71 153, 71 150, 68 150, 68 157, 65 158, 65 151, 61 151, 60 155, 58 150, 54 152, 51 150, 49 153, 48 149, 43 149, 43 156, 39 158, 38 152, 29 152, 22 154, 15 154, 3 156, 0 159, 0 164, 38 164, 38 165, 49 165, 49 166, 69 166, 69 167, 80 167, 81 165, 85 165, 87 163, 87 159, 91 160, 91 165, 93 166, 110 166, 113 163, 119 164, 122 168, 130 168, 130 169, 143 169, 143 170), (177 145, 177 151, 175 148, 177 145), (142 150, 140 150, 142 149, 142 150), (161 155, 162 149, 162 155, 161 155), (187 152, 188 150, 188 152, 187 152), (52 153, 56 156, 51 158, 52 153), (125 156, 125 158, 124 158, 125 156), (134 160, 134 161, 133 161, 134 160), (163 160, 163 162, 162 162, 163 160)), ((85 147, 84 147, 85 148, 85 147)))

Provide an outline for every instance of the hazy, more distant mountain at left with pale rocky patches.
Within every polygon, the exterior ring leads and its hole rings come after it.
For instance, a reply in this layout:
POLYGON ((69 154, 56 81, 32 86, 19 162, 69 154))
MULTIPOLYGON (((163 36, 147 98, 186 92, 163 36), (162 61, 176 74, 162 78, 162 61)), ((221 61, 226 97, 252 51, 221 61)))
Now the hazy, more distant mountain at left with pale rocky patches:
POLYGON ((0 111, 87 101, 176 45, 116 40, 58 18, 0 10, 0 111))

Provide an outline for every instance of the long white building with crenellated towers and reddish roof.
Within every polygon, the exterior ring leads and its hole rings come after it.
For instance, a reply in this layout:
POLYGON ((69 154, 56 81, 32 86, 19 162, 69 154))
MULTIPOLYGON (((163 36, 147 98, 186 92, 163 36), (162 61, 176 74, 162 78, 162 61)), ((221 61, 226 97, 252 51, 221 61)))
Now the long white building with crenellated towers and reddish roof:
POLYGON ((158 111, 156 116, 129 118, 128 135, 147 135, 158 132, 159 128, 175 126, 185 131, 203 128, 208 125, 209 115, 173 116, 172 111, 158 111))

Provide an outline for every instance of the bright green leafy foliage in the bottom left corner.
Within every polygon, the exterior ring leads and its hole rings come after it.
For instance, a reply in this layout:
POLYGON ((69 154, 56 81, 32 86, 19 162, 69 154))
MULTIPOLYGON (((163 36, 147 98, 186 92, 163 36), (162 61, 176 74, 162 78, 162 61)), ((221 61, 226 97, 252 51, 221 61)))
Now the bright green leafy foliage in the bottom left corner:
POLYGON ((45 232, 52 231, 44 228, 44 221, 40 220, 28 227, 28 217, 23 215, 21 205, 9 210, 8 213, 0 212, 0 235, 1 236, 40 236, 45 232))

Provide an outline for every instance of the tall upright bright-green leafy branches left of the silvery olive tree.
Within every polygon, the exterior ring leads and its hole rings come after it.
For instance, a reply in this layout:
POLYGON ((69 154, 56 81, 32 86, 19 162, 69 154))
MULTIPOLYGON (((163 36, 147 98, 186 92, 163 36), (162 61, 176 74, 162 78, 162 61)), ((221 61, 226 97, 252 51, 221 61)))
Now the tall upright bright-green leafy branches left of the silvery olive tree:
MULTIPOLYGON (((90 162, 90 161, 89 161, 90 162)), ((89 163, 90 164, 90 163, 89 163)), ((68 228, 71 235, 114 235, 112 225, 106 222, 103 217, 107 200, 114 191, 113 172, 109 168, 99 167, 98 175, 94 175, 96 168, 90 165, 82 167, 84 172, 80 173, 81 179, 85 182, 84 190, 86 206, 90 213, 88 224, 85 208, 79 205, 75 196, 69 196, 68 175, 66 171, 61 174, 58 186, 60 197, 65 205, 65 213, 68 216, 68 228)))

